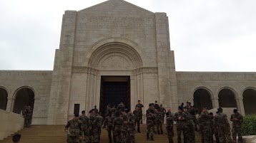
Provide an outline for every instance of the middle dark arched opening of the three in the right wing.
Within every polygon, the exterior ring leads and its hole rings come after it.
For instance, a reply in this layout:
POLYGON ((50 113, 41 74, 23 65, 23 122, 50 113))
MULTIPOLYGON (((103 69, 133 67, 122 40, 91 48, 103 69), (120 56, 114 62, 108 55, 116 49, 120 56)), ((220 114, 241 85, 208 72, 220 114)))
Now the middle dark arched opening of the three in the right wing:
POLYGON ((232 90, 224 88, 220 90, 218 97, 220 107, 237 107, 235 93, 232 90))

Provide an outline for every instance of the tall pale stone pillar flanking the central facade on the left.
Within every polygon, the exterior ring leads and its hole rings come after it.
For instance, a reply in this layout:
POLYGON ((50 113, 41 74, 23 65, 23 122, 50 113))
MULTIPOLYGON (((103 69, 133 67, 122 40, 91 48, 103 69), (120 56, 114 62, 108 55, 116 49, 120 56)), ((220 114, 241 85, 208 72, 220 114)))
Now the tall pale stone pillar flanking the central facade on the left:
POLYGON ((59 51, 54 59, 47 125, 67 124, 76 22, 77 11, 65 11, 59 51))

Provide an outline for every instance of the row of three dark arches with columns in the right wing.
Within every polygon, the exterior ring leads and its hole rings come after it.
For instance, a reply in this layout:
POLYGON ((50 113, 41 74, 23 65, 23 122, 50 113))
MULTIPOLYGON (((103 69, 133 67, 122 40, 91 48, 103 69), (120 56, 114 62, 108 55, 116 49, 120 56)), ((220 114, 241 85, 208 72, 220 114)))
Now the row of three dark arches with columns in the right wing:
POLYGON ((256 89, 246 88, 242 95, 237 95, 237 92, 232 88, 221 88, 216 95, 208 88, 200 87, 195 89, 193 102, 195 107, 202 110, 202 107, 208 109, 217 107, 236 107, 242 114, 256 113, 254 101, 256 100, 256 89))

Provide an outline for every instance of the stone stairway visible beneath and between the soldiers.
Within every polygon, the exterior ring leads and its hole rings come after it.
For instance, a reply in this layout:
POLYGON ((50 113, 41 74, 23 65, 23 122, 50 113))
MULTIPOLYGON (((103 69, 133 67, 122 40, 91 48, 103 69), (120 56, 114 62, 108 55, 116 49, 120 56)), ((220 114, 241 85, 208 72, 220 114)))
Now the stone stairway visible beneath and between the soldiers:
MULTIPOLYGON (((174 125, 175 126, 175 125, 174 125)), ((164 126, 164 135, 154 134, 154 141, 146 139, 146 125, 141 125, 142 133, 135 134, 137 143, 168 143, 164 126)), ((18 132, 21 134, 21 143, 64 143, 67 134, 64 132, 64 125, 33 125, 18 132)), ((177 142, 177 132, 174 129, 174 142, 177 142)), ((196 142, 200 143, 200 134, 196 132, 196 142)), ((12 143, 11 137, 0 141, 0 143, 12 143)), ((108 143, 107 130, 102 129, 101 143, 108 143)))

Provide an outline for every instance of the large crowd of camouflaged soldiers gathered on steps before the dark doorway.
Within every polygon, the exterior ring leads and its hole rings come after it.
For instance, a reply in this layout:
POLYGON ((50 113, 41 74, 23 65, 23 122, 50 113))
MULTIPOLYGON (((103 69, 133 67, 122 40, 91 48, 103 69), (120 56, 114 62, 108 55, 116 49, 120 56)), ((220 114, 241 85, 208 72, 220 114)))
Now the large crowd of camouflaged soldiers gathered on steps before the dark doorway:
MULTIPOLYGON (((69 120, 65 127, 67 132, 68 143, 82 142, 82 135, 84 134, 84 141, 86 143, 100 142, 100 134, 102 125, 103 128, 107 126, 109 143, 133 143, 135 142, 135 127, 140 133, 140 124, 142 123, 142 103, 138 100, 135 110, 132 112, 126 109, 123 102, 120 102, 116 107, 107 106, 104 119, 101 112, 98 112, 97 107, 89 111, 89 117, 82 111, 82 115, 75 114, 72 120, 69 120)), ((164 115, 166 115, 166 130, 169 143, 173 143, 174 137, 174 122, 177 126, 177 142, 182 142, 182 132, 184 136, 184 143, 195 143, 195 131, 197 126, 202 138, 202 143, 213 143, 213 134, 215 134, 216 142, 235 142, 236 134, 238 134, 238 142, 242 142, 242 115, 237 110, 231 116, 232 138, 230 134, 230 125, 227 120, 227 115, 222 112, 222 108, 218 109, 215 116, 208 113, 207 107, 204 107, 202 113, 187 102, 187 105, 180 105, 178 112, 165 110, 162 105, 158 105, 157 101, 149 104, 146 111, 147 122, 147 140, 154 140, 154 134, 164 134, 162 124, 164 122, 164 115), (196 115, 199 114, 197 118, 196 115)))

